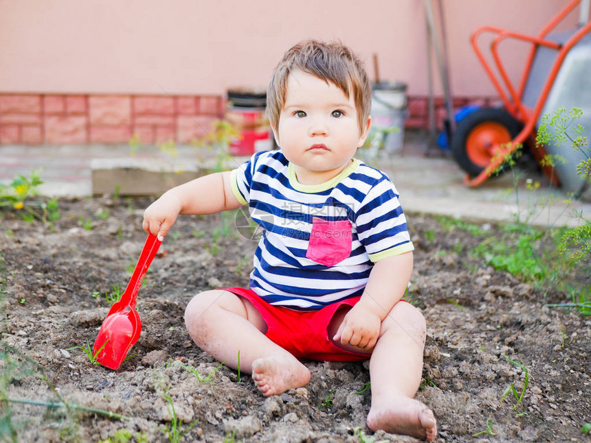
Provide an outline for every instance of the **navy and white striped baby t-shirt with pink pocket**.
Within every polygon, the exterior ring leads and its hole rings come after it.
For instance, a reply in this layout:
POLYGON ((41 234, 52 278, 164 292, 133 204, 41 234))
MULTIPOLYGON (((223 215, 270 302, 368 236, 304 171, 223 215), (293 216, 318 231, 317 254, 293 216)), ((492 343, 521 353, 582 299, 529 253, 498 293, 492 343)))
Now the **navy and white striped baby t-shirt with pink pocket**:
POLYGON ((250 287, 310 311, 361 296, 373 263, 414 249, 394 184, 360 160, 323 184, 300 184, 280 150, 232 171, 232 191, 260 226, 250 287))

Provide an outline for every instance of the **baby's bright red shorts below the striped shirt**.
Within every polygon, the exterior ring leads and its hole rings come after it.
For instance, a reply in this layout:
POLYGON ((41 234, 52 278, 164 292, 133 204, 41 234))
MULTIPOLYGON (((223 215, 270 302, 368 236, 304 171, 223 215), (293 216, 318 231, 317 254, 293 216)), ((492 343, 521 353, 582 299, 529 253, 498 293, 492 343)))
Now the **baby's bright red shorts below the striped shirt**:
POLYGON ((265 335, 294 357, 317 361, 364 361, 371 357, 371 354, 339 348, 328 338, 328 324, 335 312, 343 307, 353 307, 360 297, 329 304, 318 311, 294 311, 265 302, 252 289, 231 287, 225 291, 254 304, 267 323, 265 335))

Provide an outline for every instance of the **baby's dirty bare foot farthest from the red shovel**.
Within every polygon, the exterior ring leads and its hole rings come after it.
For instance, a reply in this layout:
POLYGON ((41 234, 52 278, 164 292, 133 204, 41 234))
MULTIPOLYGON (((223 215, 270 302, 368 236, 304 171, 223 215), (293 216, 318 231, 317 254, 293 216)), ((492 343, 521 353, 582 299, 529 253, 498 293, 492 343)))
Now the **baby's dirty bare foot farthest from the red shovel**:
POLYGON ((372 431, 412 435, 430 442, 437 436, 437 422, 433 411, 419 400, 393 396, 383 401, 372 401, 368 414, 368 427, 372 431))

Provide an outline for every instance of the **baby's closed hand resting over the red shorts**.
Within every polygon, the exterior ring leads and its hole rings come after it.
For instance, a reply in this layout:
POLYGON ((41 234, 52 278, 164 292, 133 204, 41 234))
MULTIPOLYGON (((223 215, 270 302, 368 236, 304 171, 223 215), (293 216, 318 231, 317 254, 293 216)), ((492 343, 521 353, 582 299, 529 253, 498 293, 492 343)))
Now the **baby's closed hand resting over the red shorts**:
POLYGON ((380 328, 379 315, 366 309, 363 303, 357 302, 345 315, 333 340, 344 345, 350 344, 364 350, 372 350, 379 338, 380 328))

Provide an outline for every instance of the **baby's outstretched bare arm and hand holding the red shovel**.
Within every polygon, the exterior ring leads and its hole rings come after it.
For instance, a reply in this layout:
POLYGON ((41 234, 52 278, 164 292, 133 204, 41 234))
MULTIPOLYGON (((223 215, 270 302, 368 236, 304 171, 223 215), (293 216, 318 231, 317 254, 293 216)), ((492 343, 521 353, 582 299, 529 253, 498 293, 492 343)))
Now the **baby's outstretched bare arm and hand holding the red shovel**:
POLYGON ((212 173, 162 194, 144 211, 142 228, 162 241, 179 214, 213 214, 240 206, 230 186, 230 171, 212 173))

